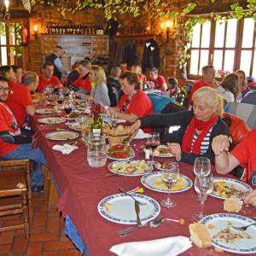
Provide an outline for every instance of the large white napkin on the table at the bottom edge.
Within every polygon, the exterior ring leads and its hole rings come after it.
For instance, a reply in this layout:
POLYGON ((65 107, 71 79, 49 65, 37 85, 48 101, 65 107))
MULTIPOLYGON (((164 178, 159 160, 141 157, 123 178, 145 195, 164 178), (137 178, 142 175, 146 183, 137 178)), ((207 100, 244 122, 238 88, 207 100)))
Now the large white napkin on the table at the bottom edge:
POLYGON ((131 241, 110 248, 110 252, 119 256, 175 256, 191 247, 191 241, 185 236, 166 237, 151 241, 131 241))

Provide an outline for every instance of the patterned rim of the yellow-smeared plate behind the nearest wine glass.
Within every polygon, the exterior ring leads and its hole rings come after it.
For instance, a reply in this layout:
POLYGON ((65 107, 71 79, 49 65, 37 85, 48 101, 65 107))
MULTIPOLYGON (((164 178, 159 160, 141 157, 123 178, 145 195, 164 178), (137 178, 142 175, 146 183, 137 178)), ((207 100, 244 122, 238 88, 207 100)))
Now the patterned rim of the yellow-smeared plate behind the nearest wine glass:
MULTIPOLYGON (((157 192, 161 192, 161 193, 168 193, 167 190, 157 189, 154 186, 152 186, 151 184, 149 184, 148 181, 147 181, 148 177, 160 177, 161 173, 162 172, 150 172, 148 174, 145 174, 141 178, 141 183, 143 184, 143 186, 145 186, 148 189, 151 189, 151 190, 154 190, 154 191, 157 191, 157 192)), ((183 179, 185 180, 185 187, 183 189, 171 190, 171 193, 180 193, 180 192, 189 190, 193 185, 193 182, 189 177, 183 175, 182 173, 180 173, 179 176, 183 177, 183 179)))

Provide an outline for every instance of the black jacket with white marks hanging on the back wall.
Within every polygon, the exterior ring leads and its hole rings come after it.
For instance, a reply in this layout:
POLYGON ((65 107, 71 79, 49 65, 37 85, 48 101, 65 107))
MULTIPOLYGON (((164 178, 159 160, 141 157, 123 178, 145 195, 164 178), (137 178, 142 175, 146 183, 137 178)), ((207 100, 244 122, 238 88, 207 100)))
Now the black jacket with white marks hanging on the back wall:
POLYGON ((146 72, 148 67, 160 67, 159 46, 153 38, 148 39, 144 44, 143 72, 146 72))

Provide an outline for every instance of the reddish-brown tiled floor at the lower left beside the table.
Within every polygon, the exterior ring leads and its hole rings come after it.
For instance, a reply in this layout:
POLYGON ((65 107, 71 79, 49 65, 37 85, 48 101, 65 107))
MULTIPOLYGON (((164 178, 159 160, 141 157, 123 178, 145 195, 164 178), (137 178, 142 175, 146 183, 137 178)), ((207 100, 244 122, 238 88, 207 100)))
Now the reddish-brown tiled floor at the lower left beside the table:
MULTIPOLYGON (((19 216, 0 218, 4 223, 20 222, 19 216)), ((0 233, 0 255, 4 256, 77 256, 79 251, 64 234, 64 221, 55 207, 48 209, 44 193, 33 195, 31 204, 31 237, 24 230, 0 233)))

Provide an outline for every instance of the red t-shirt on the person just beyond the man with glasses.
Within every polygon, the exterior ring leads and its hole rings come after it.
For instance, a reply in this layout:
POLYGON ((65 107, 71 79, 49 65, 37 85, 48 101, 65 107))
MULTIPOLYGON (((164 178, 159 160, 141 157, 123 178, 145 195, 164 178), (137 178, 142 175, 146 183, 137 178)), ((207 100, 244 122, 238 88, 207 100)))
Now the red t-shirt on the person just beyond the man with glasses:
POLYGON ((9 82, 9 88, 12 92, 9 93, 6 104, 9 106, 19 127, 23 127, 26 119, 26 107, 32 106, 32 97, 30 91, 25 85, 15 82, 9 82))

